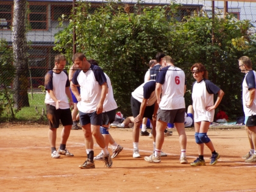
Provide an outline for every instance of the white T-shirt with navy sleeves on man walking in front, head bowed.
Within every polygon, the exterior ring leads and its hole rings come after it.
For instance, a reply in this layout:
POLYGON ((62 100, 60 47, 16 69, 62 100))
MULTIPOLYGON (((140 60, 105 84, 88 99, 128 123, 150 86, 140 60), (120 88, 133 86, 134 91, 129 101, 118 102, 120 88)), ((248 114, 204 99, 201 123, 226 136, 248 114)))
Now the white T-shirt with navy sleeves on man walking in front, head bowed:
POLYGON ((77 102, 77 108, 83 113, 96 111, 101 101, 101 85, 107 82, 104 72, 99 66, 91 65, 87 72, 77 70, 72 78, 74 85, 80 85, 81 101, 77 102))

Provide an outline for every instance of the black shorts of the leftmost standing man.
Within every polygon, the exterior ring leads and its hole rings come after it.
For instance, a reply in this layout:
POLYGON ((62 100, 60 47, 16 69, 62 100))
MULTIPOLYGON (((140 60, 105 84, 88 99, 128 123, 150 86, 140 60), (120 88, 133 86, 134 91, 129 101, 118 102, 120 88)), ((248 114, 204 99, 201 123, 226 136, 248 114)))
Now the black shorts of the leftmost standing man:
POLYGON ((54 107, 53 105, 46 104, 46 115, 49 121, 50 129, 58 128, 60 121, 63 126, 73 124, 70 108, 62 109, 54 107))

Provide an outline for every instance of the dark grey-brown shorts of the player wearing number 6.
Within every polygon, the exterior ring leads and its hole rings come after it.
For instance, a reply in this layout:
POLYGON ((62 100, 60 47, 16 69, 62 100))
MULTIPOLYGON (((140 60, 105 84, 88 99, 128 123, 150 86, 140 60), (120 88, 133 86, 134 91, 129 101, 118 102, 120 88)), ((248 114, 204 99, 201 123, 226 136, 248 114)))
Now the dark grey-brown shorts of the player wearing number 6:
POLYGON ((166 123, 184 123, 185 122, 185 108, 157 111, 157 121, 161 120, 166 123))

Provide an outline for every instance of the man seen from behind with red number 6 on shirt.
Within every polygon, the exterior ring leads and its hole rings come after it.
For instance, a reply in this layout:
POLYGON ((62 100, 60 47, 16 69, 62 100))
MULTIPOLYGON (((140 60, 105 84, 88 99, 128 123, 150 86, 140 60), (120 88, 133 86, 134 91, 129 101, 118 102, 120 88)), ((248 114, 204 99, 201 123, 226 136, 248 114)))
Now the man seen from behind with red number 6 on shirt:
POLYGON ((154 154, 144 157, 147 162, 160 163, 161 149, 165 139, 163 131, 167 123, 175 123, 180 141, 180 163, 188 163, 186 158, 187 135, 184 127, 185 99, 186 90, 185 73, 182 69, 174 66, 174 60, 165 56, 162 59, 162 65, 166 66, 159 71, 157 75, 157 85, 155 94, 159 109, 157 111, 157 136, 154 154), (162 95, 162 98, 160 96, 162 95))

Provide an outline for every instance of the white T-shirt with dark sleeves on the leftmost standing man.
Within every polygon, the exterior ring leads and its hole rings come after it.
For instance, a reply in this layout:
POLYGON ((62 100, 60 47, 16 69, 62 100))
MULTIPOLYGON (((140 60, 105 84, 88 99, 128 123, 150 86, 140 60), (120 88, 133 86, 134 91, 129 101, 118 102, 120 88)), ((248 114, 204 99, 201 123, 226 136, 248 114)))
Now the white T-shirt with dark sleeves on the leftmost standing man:
MULTIPOLYGON (((44 88, 45 90, 52 90, 55 97, 60 101, 59 108, 66 109, 69 108, 68 96, 66 96, 66 87, 70 86, 70 82, 68 80, 68 73, 63 70, 60 73, 54 73, 54 71, 48 71, 44 80, 44 88)), ((48 91, 46 91, 46 96, 44 99, 45 104, 56 106, 56 103, 51 98, 48 91)))

